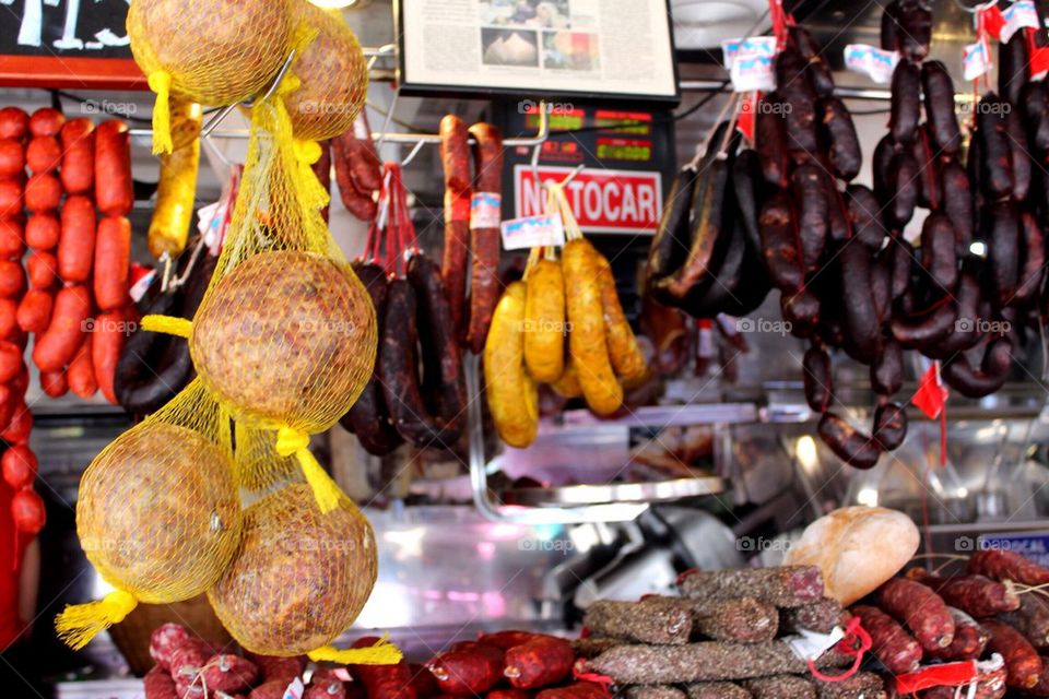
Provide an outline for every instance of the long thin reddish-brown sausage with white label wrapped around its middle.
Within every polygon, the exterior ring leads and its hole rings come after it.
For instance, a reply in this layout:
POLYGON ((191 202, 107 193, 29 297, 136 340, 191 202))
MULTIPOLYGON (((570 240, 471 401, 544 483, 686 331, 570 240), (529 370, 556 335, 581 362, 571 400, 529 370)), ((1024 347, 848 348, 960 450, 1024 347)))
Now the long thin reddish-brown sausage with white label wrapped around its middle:
MULTIPOLYGON (((469 129, 476 141, 475 192, 502 196, 503 135, 491 123, 475 123, 469 129)), ((470 252, 473 256, 470 276, 470 324, 467 345, 474 354, 484 351, 492 313, 499 301, 499 228, 470 224, 470 252)))

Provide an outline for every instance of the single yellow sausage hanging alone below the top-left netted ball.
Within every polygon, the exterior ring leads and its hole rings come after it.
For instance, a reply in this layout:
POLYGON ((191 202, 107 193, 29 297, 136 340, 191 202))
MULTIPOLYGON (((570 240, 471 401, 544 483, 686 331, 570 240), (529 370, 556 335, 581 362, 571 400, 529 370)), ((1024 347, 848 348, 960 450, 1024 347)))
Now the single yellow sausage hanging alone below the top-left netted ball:
POLYGON ((150 222, 150 254, 178 256, 186 247, 193 223, 197 168, 200 165, 200 105, 185 99, 172 100, 172 141, 174 151, 162 154, 161 179, 156 187, 156 209, 150 222))

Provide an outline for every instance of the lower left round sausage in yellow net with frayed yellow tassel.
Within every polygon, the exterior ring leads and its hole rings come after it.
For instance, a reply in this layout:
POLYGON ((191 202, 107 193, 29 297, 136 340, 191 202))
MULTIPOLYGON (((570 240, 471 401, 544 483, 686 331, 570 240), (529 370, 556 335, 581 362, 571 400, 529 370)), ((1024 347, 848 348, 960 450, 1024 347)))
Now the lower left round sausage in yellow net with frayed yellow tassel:
POLYGON ((115 591, 69 606, 59 636, 82 648, 139 602, 169 603, 210 588, 240 542, 229 418, 199 381, 123 433, 84 471, 76 532, 115 591))

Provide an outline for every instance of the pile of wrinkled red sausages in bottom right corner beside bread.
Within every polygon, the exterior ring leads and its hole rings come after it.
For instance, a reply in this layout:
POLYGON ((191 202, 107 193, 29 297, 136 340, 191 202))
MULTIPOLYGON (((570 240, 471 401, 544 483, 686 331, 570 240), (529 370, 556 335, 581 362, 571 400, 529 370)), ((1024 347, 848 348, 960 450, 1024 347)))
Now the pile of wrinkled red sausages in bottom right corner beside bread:
MULTIPOLYGON (((893 674, 919 665, 1000 654, 1003 686, 1026 696, 1049 696, 1049 599, 1028 585, 1049 582, 1049 568, 1009 550, 980 550, 958 574, 911 568, 850 612, 860 617, 872 652, 893 674)), ((919 692, 922 699, 953 697, 954 687, 919 692)))

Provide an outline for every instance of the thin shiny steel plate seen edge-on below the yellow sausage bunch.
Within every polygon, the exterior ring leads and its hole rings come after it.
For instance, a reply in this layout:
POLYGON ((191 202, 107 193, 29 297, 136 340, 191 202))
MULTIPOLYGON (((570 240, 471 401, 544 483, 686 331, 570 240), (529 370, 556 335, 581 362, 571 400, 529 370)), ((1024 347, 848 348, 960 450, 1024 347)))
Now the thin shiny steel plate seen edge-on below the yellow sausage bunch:
POLYGON ((664 502, 724 493, 724 482, 716 477, 675 478, 653 483, 611 483, 570 485, 553 488, 511 488, 499 498, 507 505, 523 507, 578 507, 604 502, 664 502))

